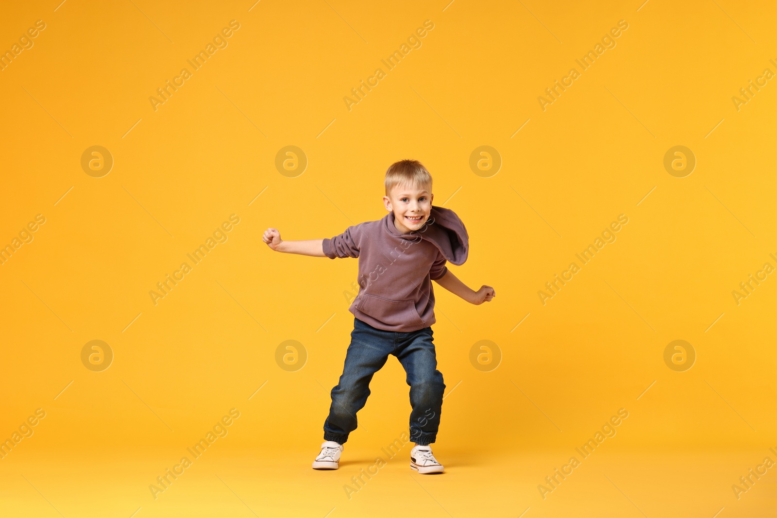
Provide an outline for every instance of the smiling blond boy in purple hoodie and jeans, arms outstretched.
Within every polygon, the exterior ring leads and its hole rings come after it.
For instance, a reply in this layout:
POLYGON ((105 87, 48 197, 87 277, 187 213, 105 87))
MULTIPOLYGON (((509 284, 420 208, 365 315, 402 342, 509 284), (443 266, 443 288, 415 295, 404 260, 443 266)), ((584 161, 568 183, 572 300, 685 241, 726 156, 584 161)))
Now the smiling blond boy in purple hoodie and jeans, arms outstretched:
POLYGON ((370 395, 373 374, 389 354, 397 357, 410 386, 410 468, 420 474, 442 473, 430 443, 437 438, 445 390, 432 342, 434 290, 431 281, 472 304, 491 301, 493 288, 474 291, 448 270, 445 262, 462 265, 469 236, 453 210, 433 207, 432 177, 416 160, 392 164, 385 175, 383 203, 389 214, 378 221, 350 226, 329 239, 283 241, 276 228, 263 241, 277 252, 305 256, 357 257, 361 290, 348 311, 354 331, 343 375, 332 389, 332 405, 324 422, 321 453, 314 469, 337 469, 348 435, 357 427, 357 412, 370 395))

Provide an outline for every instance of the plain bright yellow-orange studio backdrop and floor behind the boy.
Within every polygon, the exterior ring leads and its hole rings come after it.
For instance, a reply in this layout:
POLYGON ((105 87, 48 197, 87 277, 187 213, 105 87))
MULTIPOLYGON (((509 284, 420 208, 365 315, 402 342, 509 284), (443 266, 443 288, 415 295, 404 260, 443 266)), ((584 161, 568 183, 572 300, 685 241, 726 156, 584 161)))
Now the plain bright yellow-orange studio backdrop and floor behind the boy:
POLYGON ((0 50, 46 23, 0 71, 0 245, 47 220, 0 266, 0 438, 46 412, 0 460, 2 516, 773 509, 774 469, 740 499, 731 485, 777 461, 777 280, 739 305, 731 292, 777 266, 777 85, 738 111, 731 98, 777 71, 774 5, 57 3, 4 5, 0 19, 0 50), (232 19, 228 47, 153 110, 148 98, 232 19), (347 110, 350 89, 427 19, 422 46, 347 110), (543 111, 538 96, 622 19, 617 46, 543 111), (92 145, 113 155, 102 178, 80 165, 92 145), (287 145, 308 158, 294 178, 274 165, 287 145), (469 167, 481 145, 503 160, 489 178, 469 167), (675 145, 697 160, 685 178, 664 169, 675 145), (466 224, 469 260, 451 271, 497 297, 435 291, 446 474, 411 474, 409 444, 348 499, 343 485, 407 430, 404 373, 389 360, 340 470, 313 471, 357 261, 272 252, 261 235, 327 238, 383 217, 383 175, 402 158, 427 166, 434 204, 466 224), (230 214, 228 241, 153 304, 148 292, 230 214), (618 214, 617 241, 542 305, 538 290, 618 214), (103 372, 81 362, 93 339, 113 349, 103 372), (288 339, 308 355, 295 372, 275 361, 288 339), (469 362, 483 339, 503 356, 490 372, 469 362), (664 363, 675 339, 697 354, 685 372, 664 363), (228 435, 154 499, 148 486, 230 408, 228 435), (617 435, 542 499, 545 476, 618 408, 617 435))

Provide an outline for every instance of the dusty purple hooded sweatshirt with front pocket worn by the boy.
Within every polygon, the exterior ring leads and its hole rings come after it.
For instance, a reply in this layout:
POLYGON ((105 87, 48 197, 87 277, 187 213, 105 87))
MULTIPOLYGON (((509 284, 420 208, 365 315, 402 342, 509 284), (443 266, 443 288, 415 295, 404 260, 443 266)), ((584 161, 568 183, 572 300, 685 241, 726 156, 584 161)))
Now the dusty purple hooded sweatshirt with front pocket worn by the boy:
POLYGON ((433 205, 417 231, 401 234, 389 212, 324 239, 322 246, 329 259, 359 258, 361 290, 348 311, 372 327, 411 332, 437 322, 431 281, 448 272, 445 262, 464 264, 469 236, 453 210, 433 205))

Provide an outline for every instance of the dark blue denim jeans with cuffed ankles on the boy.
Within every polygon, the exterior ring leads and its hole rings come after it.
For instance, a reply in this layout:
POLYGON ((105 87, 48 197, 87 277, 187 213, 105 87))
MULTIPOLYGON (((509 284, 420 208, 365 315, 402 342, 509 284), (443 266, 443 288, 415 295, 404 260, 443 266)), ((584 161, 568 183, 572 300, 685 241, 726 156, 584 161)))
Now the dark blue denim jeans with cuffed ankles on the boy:
POLYGON ((324 440, 340 444, 357 426, 356 414, 370 395, 370 381, 393 354, 402 363, 410 386, 410 440, 427 445, 437 439, 445 384, 437 370, 432 329, 413 332, 376 329, 354 318, 350 346, 340 383, 332 389, 332 405, 324 422, 324 440))

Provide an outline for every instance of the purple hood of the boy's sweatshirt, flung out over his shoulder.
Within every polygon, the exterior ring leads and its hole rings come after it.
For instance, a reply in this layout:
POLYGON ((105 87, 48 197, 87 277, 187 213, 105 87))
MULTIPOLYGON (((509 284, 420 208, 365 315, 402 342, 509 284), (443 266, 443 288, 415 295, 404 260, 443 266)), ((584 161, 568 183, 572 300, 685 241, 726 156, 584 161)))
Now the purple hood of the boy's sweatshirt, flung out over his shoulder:
POLYGON ((389 231, 406 239, 422 239, 437 246, 446 260, 461 266, 469 255, 469 235, 464 222, 451 209, 432 205, 429 219, 419 230, 400 234, 394 226, 394 212, 386 217, 389 231))

